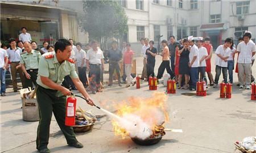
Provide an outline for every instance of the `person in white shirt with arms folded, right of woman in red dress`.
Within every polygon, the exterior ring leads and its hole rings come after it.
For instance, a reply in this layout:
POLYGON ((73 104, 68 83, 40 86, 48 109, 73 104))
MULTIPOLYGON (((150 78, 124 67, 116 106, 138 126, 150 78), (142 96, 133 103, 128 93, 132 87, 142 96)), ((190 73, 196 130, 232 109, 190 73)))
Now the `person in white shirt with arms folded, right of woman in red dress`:
POLYGON ((215 75, 215 79, 214 79, 214 86, 213 88, 217 88, 218 87, 218 80, 220 79, 220 74, 221 74, 221 70, 222 70, 222 75, 224 78, 224 82, 228 83, 228 58, 230 56, 230 46, 232 44, 232 39, 227 38, 225 40, 224 45, 220 45, 218 46, 218 48, 215 51, 216 59, 216 67, 215 67, 215 71, 216 71, 216 75, 215 75))

